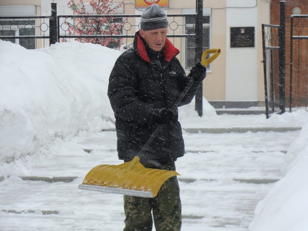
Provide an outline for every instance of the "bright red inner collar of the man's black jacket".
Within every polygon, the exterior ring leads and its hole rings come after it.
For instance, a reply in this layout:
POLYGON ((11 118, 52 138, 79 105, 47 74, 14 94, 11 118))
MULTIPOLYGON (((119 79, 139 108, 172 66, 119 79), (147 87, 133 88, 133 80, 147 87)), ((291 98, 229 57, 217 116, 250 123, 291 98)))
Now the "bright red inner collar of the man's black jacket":
MULTIPOLYGON (((140 34, 137 32, 137 50, 139 51, 140 56, 147 62, 150 62, 150 59, 148 57, 147 50, 145 49, 144 43, 141 40, 140 34)), ((169 41, 168 38, 166 38, 165 45, 162 50, 162 55, 164 59, 167 62, 170 62, 170 60, 179 54, 180 51, 176 49, 176 47, 173 46, 173 44, 169 41)))

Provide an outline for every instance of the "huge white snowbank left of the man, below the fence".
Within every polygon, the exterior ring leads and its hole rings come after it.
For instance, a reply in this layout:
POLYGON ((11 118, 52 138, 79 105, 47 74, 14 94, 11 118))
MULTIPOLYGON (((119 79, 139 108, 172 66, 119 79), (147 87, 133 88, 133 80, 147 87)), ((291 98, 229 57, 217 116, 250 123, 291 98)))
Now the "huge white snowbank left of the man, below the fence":
POLYGON ((56 137, 114 127, 107 86, 119 51, 75 41, 26 50, 2 40, 0 51, 0 166, 48 150, 56 137))

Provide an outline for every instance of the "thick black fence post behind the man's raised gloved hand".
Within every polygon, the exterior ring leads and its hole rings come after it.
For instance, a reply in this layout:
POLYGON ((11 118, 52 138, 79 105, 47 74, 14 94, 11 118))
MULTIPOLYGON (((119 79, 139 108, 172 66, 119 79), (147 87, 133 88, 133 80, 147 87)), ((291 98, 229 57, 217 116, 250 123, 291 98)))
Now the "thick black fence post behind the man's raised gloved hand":
MULTIPOLYGON (((203 0, 196 0, 196 28, 195 28, 195 34, 196 34, 196 48, 195 48, 195 54, 196 54, 196 63, 201 61, 202 57, 202 29, 203 29, 203 0)), ((195 96, 196 105, 195 109, 198 112, 198 115, 201 117, 203 114, 202 109, 202 83, 200 84, 199 90, 197 91, 197 94, 195 96)))

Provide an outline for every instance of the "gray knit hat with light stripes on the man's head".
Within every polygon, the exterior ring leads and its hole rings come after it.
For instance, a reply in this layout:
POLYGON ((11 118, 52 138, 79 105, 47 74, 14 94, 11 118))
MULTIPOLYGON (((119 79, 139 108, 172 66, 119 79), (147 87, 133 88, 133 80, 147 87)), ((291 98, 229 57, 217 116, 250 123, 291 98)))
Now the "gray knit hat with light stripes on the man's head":
POLYGON ((152 4, 141 14, 141 30, 155 30, 168 25, 167 14, 157 4, 152 4))

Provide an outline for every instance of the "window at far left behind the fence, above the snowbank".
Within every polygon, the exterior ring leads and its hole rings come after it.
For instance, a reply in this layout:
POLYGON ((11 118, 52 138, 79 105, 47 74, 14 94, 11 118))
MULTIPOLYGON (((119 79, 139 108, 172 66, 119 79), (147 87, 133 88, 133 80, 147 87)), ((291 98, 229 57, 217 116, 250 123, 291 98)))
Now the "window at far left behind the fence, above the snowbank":
MULTIPOLYGON (((29 36, 35 35, 35 20, 0 21, 1 36, 29 36)), ((35 49, 35 39, 2 39, 19 44, 26 49, 35 49)))

